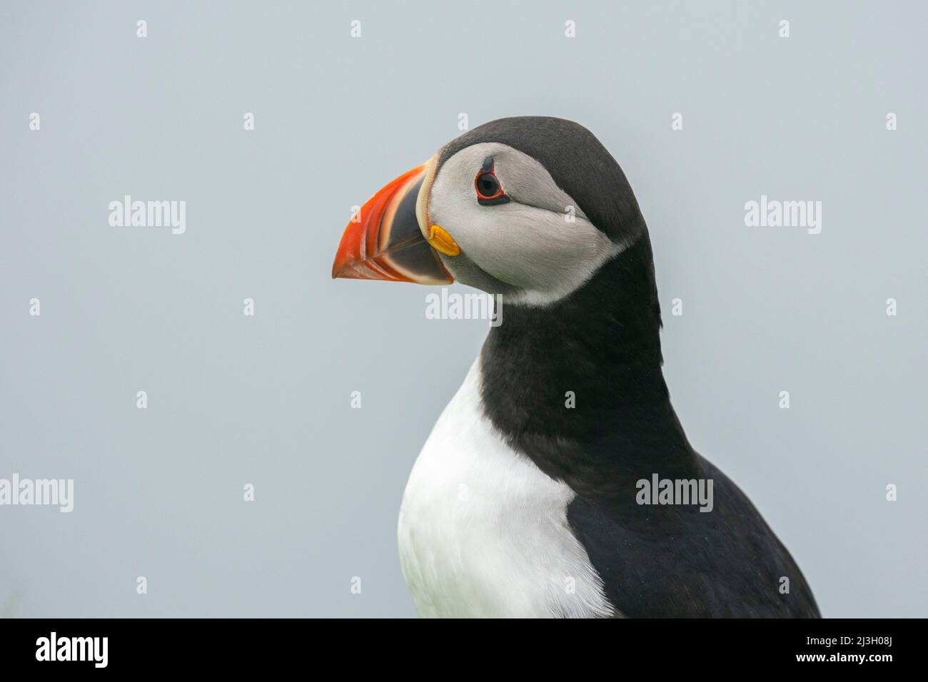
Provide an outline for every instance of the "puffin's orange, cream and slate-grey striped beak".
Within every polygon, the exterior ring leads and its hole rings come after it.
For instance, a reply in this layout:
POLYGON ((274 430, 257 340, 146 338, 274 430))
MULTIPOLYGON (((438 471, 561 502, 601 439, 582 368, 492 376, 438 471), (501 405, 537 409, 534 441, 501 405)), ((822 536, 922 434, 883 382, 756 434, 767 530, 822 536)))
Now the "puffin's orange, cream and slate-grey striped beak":
POLYGON ((430 160, 400 175, 354 213, 335 253, 332 278, 454 281, 419 227, 419 216, 427 222, 433 167, 430 160))

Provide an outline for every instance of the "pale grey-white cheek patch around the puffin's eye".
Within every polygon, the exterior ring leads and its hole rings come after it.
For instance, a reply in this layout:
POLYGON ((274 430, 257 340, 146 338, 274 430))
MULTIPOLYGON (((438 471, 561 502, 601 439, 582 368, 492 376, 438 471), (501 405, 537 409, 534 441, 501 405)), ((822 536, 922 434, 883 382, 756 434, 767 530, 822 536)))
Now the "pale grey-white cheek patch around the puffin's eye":
MULTIPOLYGON (((428 217, 473 264, 520 290, 514 302, 530 305, 568 295, 623 249, 589 222, 541 163, 495 142, 463 148, 445 161, 432 184, 428 217), (477 202, 474 178, 487 157, 509 203, 477 202)), ((470 284, 455 271, 454 257, 442 261, 470 284)))

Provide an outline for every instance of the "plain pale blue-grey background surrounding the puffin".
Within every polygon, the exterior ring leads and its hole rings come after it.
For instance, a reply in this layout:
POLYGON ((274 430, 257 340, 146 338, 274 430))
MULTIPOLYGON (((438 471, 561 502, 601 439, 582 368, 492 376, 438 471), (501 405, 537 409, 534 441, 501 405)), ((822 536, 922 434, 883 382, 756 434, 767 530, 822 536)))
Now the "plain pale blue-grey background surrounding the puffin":
POLYGON ((0 610, 413 614, 397 510, 485 322, 329 269, 351 207, 467 112, 599 136, 650 225, 691 442, 825 615, 928 615, 926 19, 915 2, 3 3, 0 477, 73 478, 75 509, 0 508, 0 610), (124 194, 186 200, 187 234, 110 227, 124 194), (761 194, 821 200, 821 234, 746 227, 761 194))

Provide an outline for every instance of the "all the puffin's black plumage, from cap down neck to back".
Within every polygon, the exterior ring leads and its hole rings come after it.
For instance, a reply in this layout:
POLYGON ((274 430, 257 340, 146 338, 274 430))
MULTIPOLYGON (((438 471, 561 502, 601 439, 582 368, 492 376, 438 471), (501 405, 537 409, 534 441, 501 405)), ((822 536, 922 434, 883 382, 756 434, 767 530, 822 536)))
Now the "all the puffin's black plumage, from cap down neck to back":
POLYGON ((818 617, 789 552, 747 496, 693 450, 670 404, 651 242, 618 163, 586 129, 545 118, 487 123, 443 159, 485 141, 535 157, 594 225, 630 243, 561 301, 504 298, 503 324, 481 354, 486 415, 576 492, 568 521, 607 598, 626 616, 818 617), (655 473, 712 479, 713 510, 639 506, 636 483, 655 473))

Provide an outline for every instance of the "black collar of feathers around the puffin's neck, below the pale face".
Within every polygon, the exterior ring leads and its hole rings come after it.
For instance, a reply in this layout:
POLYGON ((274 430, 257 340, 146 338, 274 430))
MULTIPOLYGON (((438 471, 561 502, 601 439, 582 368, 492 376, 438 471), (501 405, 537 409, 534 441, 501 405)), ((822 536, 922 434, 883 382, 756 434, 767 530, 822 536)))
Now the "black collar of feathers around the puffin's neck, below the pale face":
POLYGON ((661 371, 647 232, 559 302, 502 304, 502 324, 483 344, 481 396, 512 447, 593 495, 654 472, 692 472, 696 456, 661 371))

